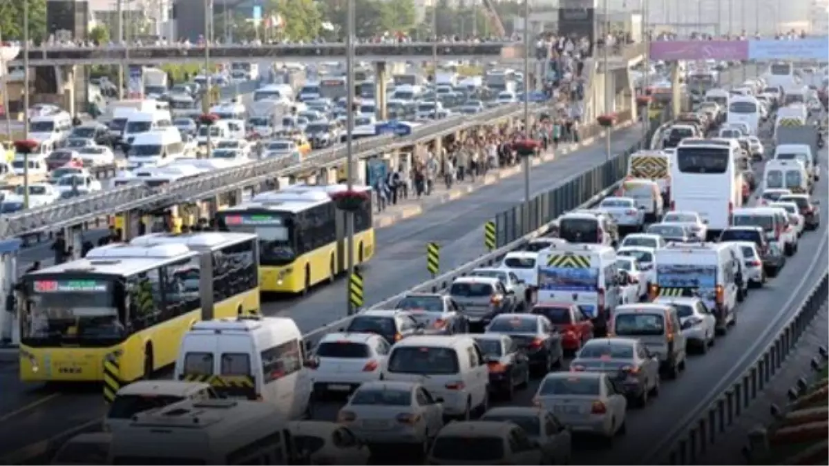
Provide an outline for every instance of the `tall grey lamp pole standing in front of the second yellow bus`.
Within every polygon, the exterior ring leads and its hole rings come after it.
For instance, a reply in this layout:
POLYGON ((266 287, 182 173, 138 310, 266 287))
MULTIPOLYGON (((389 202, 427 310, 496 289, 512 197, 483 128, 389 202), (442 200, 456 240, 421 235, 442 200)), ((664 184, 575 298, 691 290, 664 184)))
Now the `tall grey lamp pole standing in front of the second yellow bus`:
MULTIPOLYGON (((349 192, 354 189, 354 0, 348 0, 348 12, 346 15, 346 83, 347 89, 347 133, 346 133, 346 185, 349 192)), ((384 76, 379 76, 384 78, 384 76)), ((435 107, 437 111, 437 107, 435 107)), ((354 275, 354 212, 346 211, 346 238, 347 238, 347 265, 348 281, 351 284, 351 277, 354 275)), ((351 305, 350 285, 346 285, 346 303, 348 303, 348 314, 357 313, 357 309, 351 305)))

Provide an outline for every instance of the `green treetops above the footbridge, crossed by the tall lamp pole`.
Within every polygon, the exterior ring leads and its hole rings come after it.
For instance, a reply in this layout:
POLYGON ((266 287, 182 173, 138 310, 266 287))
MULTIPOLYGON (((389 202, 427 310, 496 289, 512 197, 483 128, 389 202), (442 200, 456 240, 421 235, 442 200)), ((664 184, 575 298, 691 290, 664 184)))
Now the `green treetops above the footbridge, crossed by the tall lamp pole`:
MULTIPOLYGON (((415 26, 417 11, 413 0, 353 0, 354 30, 357 37, 409 32, 415 26)), ((323 17, 335 28, 333 36, 347 33, 348 1, 333 0, 323 7, 323 17)))

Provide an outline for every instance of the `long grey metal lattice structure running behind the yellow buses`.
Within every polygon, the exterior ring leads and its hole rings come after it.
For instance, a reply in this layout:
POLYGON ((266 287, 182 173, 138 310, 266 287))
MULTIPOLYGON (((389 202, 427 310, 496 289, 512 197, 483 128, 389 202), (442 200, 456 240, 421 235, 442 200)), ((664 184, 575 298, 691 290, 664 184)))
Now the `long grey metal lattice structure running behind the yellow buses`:
MULTIPOLYGON (((533 105, 532 111, 540 107, 533 105)), ((499 119, 519 117, 521 104, 505 105, 490 109, 480 114, 458 116, 442 119, 413 131, 404 137, 390 135, 359 139, 354 142, 354 152, 358 158, 367 158, 376 153, 404 148, 415 143, 423 143, 445 134, 455 133, 474 126, 496 124, 499 119)), ((175 182, 165 187, 150 188, 145 186, 125 186, 106 192, 77 197, 69 201, 60 201, 49 206, 38 207, 25 212, 0 218, 0 238, 25 235, 39 231, 55 231, 68 226, 80 225, 97 216, 111 215, 136 208, 157 208, 158 202, 168 199, 184 200, 209 195, 217 188, 225 192, 240 187, 251 186, 251 180, 261 177, 289 176, 307 172, 316 168, 342 163, 347 157, 345 147, 330 148, 314 153, 303 163, 294 163, 289 158, 266 159, 246 163, 219 172, 210 172, 192 180, 175 182)))

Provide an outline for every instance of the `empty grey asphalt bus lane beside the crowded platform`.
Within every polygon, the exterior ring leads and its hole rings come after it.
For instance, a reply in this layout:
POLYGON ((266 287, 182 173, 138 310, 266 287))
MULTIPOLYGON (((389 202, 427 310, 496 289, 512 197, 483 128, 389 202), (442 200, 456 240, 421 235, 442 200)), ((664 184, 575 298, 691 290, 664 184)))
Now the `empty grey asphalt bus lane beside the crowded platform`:
MULTIPOLYGON (((621 153, 642 135, 637 125, 613 134, 613 151, 621 153)), ((595 143, 550 163, 533 167, 531 189, 546 192, 568 177, 604 163, 604 141, 595 143)), ((430 278, 425 247, 429 241, 441 245, 440 269, 448 271, 467 263, 486 250, 482 224, 523 199, 524 177, 516 175, 482 187, 458 200, 435 206, 410 220, 376 230, 376 252, 363 268, 366 303, 373 304, 402 293, 430 278), (460 215, 463 214, 463 215, 460 215)), ((293 301, 265 303, 264 313, 293 318, 303 332, 346 316, 346 284, 338 280, 293 301), (337 303, 333 304, 332 303, 337 303)))

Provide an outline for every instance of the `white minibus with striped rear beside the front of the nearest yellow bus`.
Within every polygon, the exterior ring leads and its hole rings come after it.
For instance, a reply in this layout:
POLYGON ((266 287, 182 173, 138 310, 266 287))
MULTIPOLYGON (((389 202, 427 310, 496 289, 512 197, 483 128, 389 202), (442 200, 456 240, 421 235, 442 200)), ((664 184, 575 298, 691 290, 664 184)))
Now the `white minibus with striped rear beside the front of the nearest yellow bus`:
MULTIPOLYGON (((290 318, 240 316, 197 322, 184 335, 176 380, 207 381, 221 396, 262 400, 286 418, 308 412, 311 377, 303 335, 290 318)), ((484 365, 484 378, 487 366, 484 365)))

